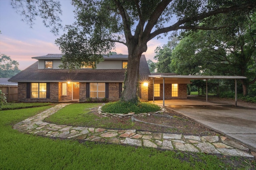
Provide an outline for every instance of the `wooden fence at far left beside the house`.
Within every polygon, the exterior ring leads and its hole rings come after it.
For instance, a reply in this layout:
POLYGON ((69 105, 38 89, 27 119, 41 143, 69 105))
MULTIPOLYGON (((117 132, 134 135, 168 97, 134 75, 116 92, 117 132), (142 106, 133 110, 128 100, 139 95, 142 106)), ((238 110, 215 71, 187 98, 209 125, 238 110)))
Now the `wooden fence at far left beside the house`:
POLYGON ((18 85, 0 85, 0 90, 5 94, 7 102, 18 100, 18 85))

